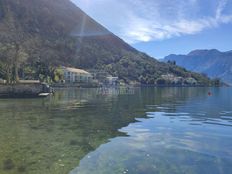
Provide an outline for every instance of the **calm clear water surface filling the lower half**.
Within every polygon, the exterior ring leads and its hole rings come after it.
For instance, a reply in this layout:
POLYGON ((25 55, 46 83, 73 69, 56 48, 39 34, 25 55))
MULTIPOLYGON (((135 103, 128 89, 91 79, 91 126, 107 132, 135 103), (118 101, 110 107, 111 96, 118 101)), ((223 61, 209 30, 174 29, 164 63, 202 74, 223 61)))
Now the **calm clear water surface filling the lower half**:
POLYGON ((232 88, 66 89, 0 100, 0 174, 231 171, 232 88))

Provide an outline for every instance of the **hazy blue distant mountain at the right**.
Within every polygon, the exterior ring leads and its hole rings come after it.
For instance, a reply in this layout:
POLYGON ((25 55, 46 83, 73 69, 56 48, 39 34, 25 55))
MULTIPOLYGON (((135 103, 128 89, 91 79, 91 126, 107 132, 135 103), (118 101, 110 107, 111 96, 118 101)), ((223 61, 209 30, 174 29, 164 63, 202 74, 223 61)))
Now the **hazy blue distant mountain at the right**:
POLYGON ((177 65, 190 71, 204 73, 232 84, 232 51, 194 50, 187 55, 171 54, 164 60, 175 61, 177 65))

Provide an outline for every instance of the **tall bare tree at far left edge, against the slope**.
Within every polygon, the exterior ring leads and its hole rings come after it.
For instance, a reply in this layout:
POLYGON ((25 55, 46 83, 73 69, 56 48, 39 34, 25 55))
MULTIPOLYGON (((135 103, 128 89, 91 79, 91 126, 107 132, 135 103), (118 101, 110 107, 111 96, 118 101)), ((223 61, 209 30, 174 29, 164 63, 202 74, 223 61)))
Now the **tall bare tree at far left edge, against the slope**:
POLYGON ((26 62, 28 54, 23 48, 26 40, 21 26, 16 25, 9 1, 4 1, 4 19, 0 31, 0 61, 7 83, 19 81, 19 67, 26 62))

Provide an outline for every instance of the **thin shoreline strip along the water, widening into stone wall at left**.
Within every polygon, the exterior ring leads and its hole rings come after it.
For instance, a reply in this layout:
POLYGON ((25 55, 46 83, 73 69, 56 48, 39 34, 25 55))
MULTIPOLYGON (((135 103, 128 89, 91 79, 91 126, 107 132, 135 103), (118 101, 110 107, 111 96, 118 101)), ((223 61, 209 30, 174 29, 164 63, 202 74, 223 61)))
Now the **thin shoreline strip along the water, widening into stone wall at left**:
POLYGON ((118 89, 118 88, 203 88, 203 87, 231 87, 229 85, 119 85, 119 86, 97 86, 89 84, 52 84, 45 83, 22 83, 22 84, 0 84, 0 98, 43 98, 53 93, 52 89, 88 89, 88 88, 103 88, 103 89, 118 89))

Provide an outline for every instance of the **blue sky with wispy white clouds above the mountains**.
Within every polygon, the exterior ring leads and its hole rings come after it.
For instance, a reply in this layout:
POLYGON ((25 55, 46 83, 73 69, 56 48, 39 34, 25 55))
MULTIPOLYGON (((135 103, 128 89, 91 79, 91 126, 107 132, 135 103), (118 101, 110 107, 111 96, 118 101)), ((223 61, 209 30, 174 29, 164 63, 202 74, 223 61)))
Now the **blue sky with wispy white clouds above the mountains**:
POLYGON ((232 0, 72 0, 115 35, 155 58, 232 50, 232 0))

